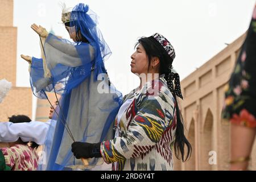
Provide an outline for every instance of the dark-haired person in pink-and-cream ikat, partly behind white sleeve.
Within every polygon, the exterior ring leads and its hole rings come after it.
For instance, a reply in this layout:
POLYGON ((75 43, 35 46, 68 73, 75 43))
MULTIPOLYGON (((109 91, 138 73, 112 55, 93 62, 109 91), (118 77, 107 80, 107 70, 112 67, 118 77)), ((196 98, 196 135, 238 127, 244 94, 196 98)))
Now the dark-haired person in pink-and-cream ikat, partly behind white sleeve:
MULTIPOLYGON (((13 115, 9 118, 9 122, 23 123, 30 122, 31 119, 26 115, 13 115)), ((35 142, 23 142, 18 139, 15 142, 9 142, 9 148, 1 148, 3 156, 5 156, 6 166, 13 171, 35 171, 38 168, 39 156, 36 149, 39 145, 35 142)))

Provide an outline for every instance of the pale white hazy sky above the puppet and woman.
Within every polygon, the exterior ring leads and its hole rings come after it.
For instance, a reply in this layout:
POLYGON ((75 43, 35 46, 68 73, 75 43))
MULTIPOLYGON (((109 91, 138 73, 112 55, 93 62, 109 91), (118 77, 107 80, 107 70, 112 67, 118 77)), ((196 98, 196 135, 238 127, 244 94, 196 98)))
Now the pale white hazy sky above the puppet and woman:
POLYGON ((166 36, 176 51, 174 68, 182 78, 203 65, 248 28, 255 0, 14 0, 18 27, 17 86, 29 86, 28 65, 19 55, 40 57, 39 37, 30 28, 40 24, 69 39, 61 24, 59 2, 79 2, 98 14, 98 27, 113 54, 106 61, 109 77, 123 94, 139 84, 130 72, 130 56, 141 36, 166 36))

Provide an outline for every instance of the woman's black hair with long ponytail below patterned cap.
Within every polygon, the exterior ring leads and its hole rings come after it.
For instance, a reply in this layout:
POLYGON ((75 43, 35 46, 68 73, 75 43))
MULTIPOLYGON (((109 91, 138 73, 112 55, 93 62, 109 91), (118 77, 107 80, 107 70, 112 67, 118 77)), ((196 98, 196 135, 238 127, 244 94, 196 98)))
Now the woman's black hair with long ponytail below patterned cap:
POLYGON ((180 80, 179 75, 177 73, 172 72, 172 61, 174 60, 174 56, 170 57, 166 50, 161 46, 161 44, 155 40, 152 36, 146 38, 142 37, 138 40, 138 44, 141 44, 146 51, 148 56, 148 72, 150 68, 150 63, 152 57, 158 57, 160 61, 159 75, 164 74, 164 78, 167 81, 168 88, 170 92, 173 94, 176 102, 176 133, 175 133, 175 142, 174 142, 174 150, 176 158, 179 159, 179 152, 181 154, 182 161, 186 161, 190 158, 192 147, 188 142, 187 138, 184 135, 184 124, 183 117, 181 115, 179 105, 177 103, 176 96, 183 98, 180 90, 180 80), (175 83, 175 88, 174 84, 175 83), (187 146, 187 155, 184 160, 184 146, 187 146))

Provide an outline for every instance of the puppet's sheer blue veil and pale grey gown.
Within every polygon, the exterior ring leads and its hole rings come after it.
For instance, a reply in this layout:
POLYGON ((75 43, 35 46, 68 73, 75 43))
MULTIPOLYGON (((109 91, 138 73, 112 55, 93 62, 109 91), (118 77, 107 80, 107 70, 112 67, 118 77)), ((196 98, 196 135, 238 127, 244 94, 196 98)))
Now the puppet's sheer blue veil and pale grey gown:
POLYGON ((39 170, 85 169, 103 163, 101 158, 93 158, 85 167, 77 160, 65 127, 76 141, 98 143, 111 139, 114 118, 122 105, 122 93, 109 85, 106 75, 104 60, 111 51, 97 28, 97 15, 88 5, 79 3, 71 12, 71 23, 85 41, 73 43, 47 36, 43 50, 50 77, 44 75, 43 60, 32 58, 30 84, 34 95, 46 99, 46 92, 61 94, 57 123, 49 127, 43 151, 46 160, 39 170))

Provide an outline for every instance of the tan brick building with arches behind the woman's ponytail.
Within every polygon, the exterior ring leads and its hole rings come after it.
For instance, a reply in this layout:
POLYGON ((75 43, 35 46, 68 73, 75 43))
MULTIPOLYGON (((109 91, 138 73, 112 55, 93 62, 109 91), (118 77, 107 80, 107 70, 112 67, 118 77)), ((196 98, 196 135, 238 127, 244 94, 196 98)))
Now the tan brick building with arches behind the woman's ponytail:
MULTIPOLYGON (((228 170, 230 156, 229 123, 221 119, 224 88, 236 63, 246 34, 181 81, 184 100, 181 110, 192 145, 188 162, 175 159, 176 170, 228 170), (209 159, 210 163, 209 164, 209 159), (214 161, 214 159, 216 159, 214 161)), ((203 53, 203 52, 202 52, 203 53)), ((252 152, 255 165, 256 148, 252 152)))

